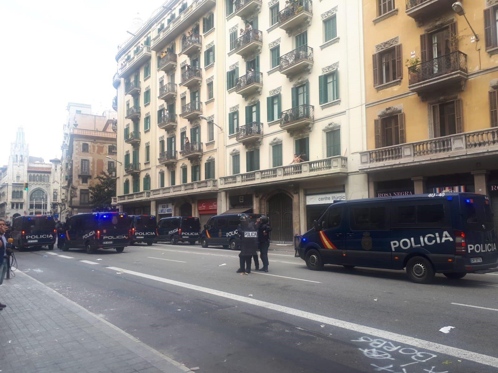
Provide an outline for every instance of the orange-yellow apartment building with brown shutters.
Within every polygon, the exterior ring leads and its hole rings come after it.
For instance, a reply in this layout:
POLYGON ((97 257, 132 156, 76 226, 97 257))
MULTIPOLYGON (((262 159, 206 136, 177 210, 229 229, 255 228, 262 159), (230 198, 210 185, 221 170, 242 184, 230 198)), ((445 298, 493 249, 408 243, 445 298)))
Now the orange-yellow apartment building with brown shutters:
POLYGON ((371 197, 469 191, 498 208, 498 1, 454 3, 363 1, 371 197))

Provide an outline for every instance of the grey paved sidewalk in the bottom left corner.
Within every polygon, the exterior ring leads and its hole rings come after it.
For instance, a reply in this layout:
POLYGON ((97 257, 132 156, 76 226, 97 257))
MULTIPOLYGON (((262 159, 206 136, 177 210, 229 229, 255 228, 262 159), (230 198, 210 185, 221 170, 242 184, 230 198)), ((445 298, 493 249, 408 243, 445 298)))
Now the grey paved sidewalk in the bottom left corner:
POLYGON ((0 300, 2 373, 191 372, 26 274, 0 300))

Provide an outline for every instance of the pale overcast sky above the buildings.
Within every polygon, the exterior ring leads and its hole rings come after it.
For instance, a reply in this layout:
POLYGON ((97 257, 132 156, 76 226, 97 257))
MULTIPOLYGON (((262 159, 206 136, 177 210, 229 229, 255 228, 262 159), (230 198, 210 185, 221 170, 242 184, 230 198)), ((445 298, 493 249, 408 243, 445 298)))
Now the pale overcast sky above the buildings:
POLYGON ((89 103, 94 114, 112 108, 117 46, 133 18, 146 20, 162 2, 0 1, 0 165, 17 127, 29 155, 47 162, 61 156, 68 102, 89 103))

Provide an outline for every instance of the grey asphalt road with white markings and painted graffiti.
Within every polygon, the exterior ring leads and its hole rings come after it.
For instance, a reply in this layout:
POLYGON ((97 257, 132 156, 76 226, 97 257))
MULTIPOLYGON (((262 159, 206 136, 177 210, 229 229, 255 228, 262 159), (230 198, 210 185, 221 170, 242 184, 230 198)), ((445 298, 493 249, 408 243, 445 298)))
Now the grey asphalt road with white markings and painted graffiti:
POLYGON ((237 252, 166 244, 15 255, 20 271, 200 372, 498 372, 496 275, 420 285, 396 271, 314 272, 275 251, 268 274, 246 276, 237 252))

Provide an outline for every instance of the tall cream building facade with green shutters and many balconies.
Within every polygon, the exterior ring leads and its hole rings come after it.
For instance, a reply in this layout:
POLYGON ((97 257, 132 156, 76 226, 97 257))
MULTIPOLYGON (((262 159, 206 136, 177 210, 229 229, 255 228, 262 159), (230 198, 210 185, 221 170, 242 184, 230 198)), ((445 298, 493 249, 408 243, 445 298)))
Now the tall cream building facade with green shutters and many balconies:
POLYGON ((359 1, 163 5, 117 55, 122 211, 264 213, 290 242, 331 201, 367 197, 359 1))

